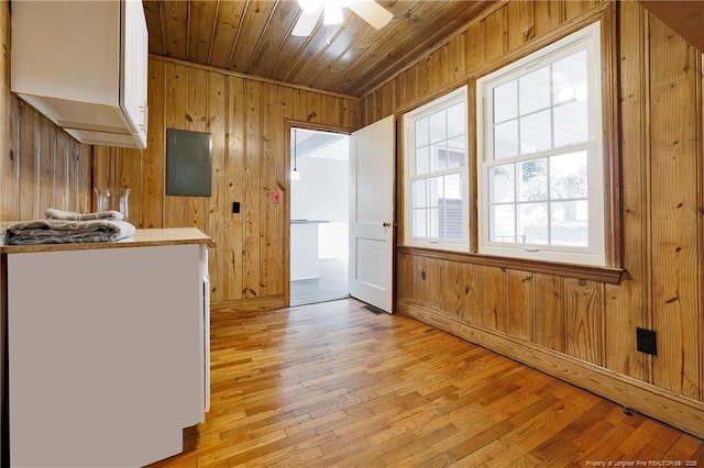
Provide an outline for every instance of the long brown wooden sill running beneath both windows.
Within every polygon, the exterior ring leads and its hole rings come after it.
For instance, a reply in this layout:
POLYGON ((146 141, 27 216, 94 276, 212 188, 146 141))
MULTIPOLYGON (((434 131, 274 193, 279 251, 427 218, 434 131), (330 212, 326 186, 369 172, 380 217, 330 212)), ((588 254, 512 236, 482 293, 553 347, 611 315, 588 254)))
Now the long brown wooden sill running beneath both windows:
POLYGON ((491 255, 464 254, 450 250, 398 246, 396 252, 406 255, 417 255, 427 258, 459 261, 463 264, 482 265, 486 267, 506 268, 513 270, 531 271, 543 275, 554 275, 566 278, 584 279, 588 281, 618 285, 624 276, 623 268, 593 267, 587 265, 559 264, 551 261, 527 260, 522 258, 497 257, 491 255))

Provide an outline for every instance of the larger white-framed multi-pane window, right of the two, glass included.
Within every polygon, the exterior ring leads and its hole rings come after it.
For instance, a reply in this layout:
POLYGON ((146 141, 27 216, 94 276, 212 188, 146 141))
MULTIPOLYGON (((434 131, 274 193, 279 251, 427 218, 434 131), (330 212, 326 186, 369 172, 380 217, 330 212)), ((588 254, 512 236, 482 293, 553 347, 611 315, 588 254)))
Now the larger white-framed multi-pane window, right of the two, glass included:
POLYGON ((479 253, 605 265, 600 25, 477 80, 479 253))

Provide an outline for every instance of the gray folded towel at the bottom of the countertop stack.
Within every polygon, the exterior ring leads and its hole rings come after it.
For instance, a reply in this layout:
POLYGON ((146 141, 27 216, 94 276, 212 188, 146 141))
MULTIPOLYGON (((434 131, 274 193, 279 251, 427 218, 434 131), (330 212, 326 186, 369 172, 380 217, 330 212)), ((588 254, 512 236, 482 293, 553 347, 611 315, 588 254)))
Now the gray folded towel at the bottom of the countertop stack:
POLYGON ((36 220, 9 227, 7 243, 28 245, 114 242, 130 237, 134 232, 135 227, 122 220, 36 220))

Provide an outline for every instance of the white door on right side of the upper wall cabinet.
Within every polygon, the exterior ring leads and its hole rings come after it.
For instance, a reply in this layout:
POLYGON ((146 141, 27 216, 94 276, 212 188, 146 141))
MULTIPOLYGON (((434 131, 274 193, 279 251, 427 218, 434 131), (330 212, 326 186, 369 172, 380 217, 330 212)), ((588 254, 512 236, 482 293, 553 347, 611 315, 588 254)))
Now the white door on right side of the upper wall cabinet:
POLYGON ((122 2, 122 109, 146 145, 148 33, 141 0, 122 2))

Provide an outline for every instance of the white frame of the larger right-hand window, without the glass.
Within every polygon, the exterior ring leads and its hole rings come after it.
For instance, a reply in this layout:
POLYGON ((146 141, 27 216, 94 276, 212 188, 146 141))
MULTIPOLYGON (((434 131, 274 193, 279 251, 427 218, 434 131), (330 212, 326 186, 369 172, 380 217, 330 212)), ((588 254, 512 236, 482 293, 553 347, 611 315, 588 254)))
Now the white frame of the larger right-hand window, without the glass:
MULTIPOLYGON (((561 264, 576 264, 596 267, 607 267, 609 261, 609 213, 607 212, 607 200, 612 199, 608 187, 605 183, 609 179, 605 163, 609 159, 607 148, 604 145, 604 134, 608 126, 608 109, 604 86, 606 81, 603 77, 604 68, 602 64, 608 60, 603 47, 603 25, 601 21, 595 21, 586 26, 580 27, 552 43, 538 49, 531 51, 522 57, 491 71, 475 81, 476 92, 476 219, 471 220, 476 223, 474 231, 476 238, 476 252, 479 255, 490 255, 499 257, 510 257, 515 259, 528 259, 539 261, 554 261, 561 264), (522 154, 515 157, 494 159, 493 141, 494 129, 493 116, 493 89, 503 83, 516 80, 520 76, 537 70, 548 63, 556 63, 561 58, 574 54, 579 49, 587 51, 587 81, 590 100, 588 119, 590 123, 587 141, 574 145, 574 148, 587 151, 587 202, 588 202, 588 247, 573 248, 553 245, 530 245, 519 243, 492 242, 490 233, 490 182, 488 169, 503 164, 520 163, 548 158, 558 154, 571 152, 569 146, 551 148, 534 154, 522 154), (596 79, 593 79, 596 77, 596 79), (592 123, 598 122, 600 127, 595 130, 592 123)), ((556 109, 554 102, 550 103, 550 112, 556 109)), ((519 115, 517 115, 517 119, 519 115)), ((513 205, 518 209, 519 202, 514 200, 513 205)))

